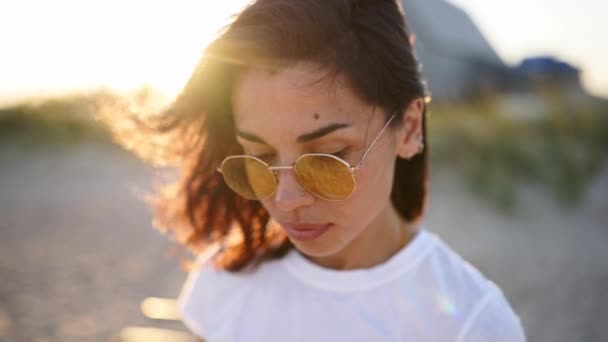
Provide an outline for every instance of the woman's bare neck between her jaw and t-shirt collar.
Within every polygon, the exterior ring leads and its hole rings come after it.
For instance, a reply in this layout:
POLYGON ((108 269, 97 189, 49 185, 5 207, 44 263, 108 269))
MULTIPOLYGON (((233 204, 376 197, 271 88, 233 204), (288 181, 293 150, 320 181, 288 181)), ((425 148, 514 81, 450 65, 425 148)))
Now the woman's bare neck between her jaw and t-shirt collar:
POLYGON ((337 270, 370 268, 390 259, 405 247, 417 232, 392 205, 388 205, 357 237, 338 253, 309 257, 321 266, 337 270))

